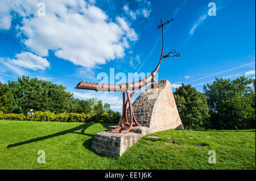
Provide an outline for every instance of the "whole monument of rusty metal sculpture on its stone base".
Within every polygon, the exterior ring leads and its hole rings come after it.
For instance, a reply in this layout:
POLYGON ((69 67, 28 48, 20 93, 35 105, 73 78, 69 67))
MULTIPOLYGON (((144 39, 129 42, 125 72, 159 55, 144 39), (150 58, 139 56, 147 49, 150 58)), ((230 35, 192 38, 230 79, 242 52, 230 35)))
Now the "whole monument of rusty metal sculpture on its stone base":
MULTIPOLYGON (((173 20, 168 20, 167 23, 173 20)), ((166 80, 156 81, 155 79, 163 58, 180 56, 180 53, 176 53, 175 49, 163 56, 163 26, 167 23, 163 23, 161 19, 161 24, 157 27, 162 27, 162 53, 159 64, 147 77, 137 82, 118 85, 80 82, 75 87, 76 89, 95 91, 123 92, 123 109, 119 124, 115 127, 109 127, 106 132, 97 133, 93 139, 92 149, 97 153, 121 156, 125 150, 145 134, 166 129, 183 129, 174 95, 172 94, 171 83, 166 80), (142 92, 132 104, 131 98, 133 98, 134 94, 149 85, 151 85, 151 89, 142 92), (129 91, 133 92, 130 94, 129 91), (128 104, 129 108, 127 109, 128 104)))

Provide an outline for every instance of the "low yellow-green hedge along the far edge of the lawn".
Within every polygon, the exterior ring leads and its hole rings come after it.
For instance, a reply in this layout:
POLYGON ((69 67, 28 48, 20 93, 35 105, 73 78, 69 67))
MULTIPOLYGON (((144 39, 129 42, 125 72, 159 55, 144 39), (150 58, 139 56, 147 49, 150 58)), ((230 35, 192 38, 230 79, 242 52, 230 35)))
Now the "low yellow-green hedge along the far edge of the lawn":
POLYGON ((59 122, 86 122, 86 123, 118 123, 120 118, 119 112, 102 112, 102 113, 59 113, 55 114, 49 111, 36 111, 34 115, 24 116, 22 113, 6 113, 0 111, 2 120, 19 120, 19 121, 59 121, 59 122))

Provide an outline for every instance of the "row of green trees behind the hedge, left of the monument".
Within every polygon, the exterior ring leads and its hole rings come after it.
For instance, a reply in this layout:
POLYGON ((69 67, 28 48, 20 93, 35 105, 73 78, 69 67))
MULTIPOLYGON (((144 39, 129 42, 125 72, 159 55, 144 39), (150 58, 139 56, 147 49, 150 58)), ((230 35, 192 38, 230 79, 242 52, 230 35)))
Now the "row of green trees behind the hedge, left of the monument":
POLYGON ((65 90, 66 87, 50 81, 19 77, 18 81, 0 82, 0 111, 27 114, 35 111, 52 113, 104 113, 119 114, 110 110, 110 104, 96 98, 79 100, 65 90))

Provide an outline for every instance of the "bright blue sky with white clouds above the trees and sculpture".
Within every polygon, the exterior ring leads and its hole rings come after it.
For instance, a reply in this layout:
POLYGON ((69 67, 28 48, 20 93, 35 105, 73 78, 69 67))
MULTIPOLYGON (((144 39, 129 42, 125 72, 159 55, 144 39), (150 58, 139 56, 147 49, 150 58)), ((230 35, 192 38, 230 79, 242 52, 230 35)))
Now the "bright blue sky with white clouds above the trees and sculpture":
POLYGON ((154 70, 162 49, 156 28, 161 18, 175 19, 164 27, 164 54, 181 54, 164 59, 158 74, 173 91, 181 83, 203 91, 215 77, 255 77, 254 0, 3 0, 0 81, 38 77, 64 85, 75 98, 96 97, 121 110, 121 93, 74 87, 82 80, 100 82, 101 75, 117 83, 110 76, 154 70), (216 16, 208 14, 210 2, 216 16))

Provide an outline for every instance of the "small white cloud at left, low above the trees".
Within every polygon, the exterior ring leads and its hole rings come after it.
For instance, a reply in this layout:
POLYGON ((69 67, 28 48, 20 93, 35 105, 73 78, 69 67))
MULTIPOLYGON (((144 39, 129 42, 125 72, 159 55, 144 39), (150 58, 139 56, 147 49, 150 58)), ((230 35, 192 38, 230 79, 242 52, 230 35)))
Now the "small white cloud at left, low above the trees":
POLYGON ((10 63, 31 70, 45 70, 46 68, 49 68, 49 62, 46 58, 36 56, 30 52, 16 54, 15 58, 12 59, 10 63))

